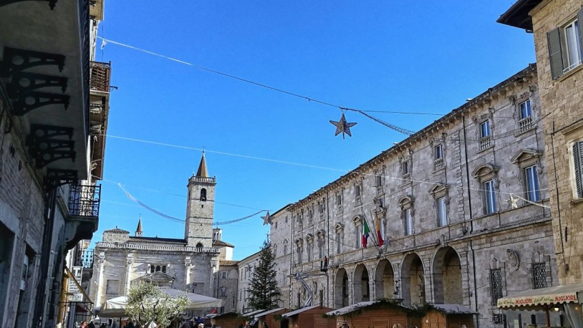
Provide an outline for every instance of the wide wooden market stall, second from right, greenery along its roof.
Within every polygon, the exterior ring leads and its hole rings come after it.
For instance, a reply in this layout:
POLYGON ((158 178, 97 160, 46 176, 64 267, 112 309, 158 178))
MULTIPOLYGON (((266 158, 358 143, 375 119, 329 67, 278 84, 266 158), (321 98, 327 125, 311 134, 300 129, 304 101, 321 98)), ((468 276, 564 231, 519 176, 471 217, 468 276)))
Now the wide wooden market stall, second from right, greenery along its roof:
POLYGON ((409 307, 396 300, 369 300, 329 311, 326 315, 333 318, 333 327, 341 327, 346 321, 350 328, 407 328, 419 322, 409 316, 410 312, 409 307))

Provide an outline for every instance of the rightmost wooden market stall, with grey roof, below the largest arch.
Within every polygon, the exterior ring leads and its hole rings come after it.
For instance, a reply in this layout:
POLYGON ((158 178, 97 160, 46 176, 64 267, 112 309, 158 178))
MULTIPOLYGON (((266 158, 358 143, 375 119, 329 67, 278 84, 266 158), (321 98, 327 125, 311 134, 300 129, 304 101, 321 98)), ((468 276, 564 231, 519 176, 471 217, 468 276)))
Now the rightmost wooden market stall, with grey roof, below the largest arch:
POLYGON ((430 304, 421 319, 421 328, 474 328, 476 314, 466 305, 430 304))

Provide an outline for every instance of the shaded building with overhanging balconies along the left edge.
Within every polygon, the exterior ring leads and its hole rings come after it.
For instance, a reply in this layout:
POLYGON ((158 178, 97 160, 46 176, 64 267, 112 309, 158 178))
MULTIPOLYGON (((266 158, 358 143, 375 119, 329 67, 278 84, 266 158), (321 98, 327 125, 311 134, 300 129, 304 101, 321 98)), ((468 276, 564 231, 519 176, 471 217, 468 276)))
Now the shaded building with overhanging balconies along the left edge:
POLYGON ((67 252, 97 230, 111 67, 89 2, 0 3, 0 327, 63 322, 67 252))

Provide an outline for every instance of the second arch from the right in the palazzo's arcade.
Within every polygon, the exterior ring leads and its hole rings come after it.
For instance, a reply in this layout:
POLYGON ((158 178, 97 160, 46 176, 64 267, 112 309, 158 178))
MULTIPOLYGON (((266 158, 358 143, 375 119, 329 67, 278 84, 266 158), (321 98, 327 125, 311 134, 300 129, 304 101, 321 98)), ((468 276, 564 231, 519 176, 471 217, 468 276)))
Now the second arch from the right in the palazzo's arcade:
POLYGON ((406 304, 425 304, 425 272, 419 255, 405 256, 401 266, 401 296, 406 304))

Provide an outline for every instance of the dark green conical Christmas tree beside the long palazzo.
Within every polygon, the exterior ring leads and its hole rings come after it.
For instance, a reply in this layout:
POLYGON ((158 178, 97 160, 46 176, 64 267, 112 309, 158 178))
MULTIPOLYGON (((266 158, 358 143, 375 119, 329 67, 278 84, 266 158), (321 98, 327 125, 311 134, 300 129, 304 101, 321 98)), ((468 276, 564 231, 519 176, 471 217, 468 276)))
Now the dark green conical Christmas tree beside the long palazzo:
POLYGON ((250 283, 249 306, 253 309, 275 309, 281 301, 281 289, 276 281, 275 254, 269 237, 259 251, 259 265, 250 283))

